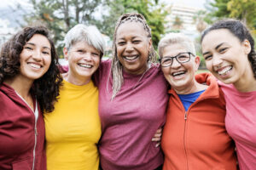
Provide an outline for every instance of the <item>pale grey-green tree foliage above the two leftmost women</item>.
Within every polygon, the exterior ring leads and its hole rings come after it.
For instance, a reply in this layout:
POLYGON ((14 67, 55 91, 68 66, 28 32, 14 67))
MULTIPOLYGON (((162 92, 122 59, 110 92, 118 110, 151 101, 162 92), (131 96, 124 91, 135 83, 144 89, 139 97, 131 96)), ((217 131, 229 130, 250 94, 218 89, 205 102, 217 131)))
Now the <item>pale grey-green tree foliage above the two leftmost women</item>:
POLYGON ((44 25, 52 31, 58 54, 62 54, 67 31, 78 23, 90 24, 102 0, 30 0, 33 13, 25 16, 26 25, 44 25))

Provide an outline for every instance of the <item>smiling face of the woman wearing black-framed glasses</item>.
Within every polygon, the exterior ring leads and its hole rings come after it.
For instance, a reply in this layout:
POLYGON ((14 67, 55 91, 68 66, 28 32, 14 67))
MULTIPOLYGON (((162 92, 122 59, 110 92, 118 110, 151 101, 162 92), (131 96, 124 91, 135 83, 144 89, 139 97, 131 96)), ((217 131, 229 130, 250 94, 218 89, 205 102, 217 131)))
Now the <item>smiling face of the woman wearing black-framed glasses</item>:
MULTIPOLYGON (((189 51, 182 44, 174 43, 163 49, 162 57, 174 57, 187 52, 189 51)), ((195 81, 195 71, 197 71, 199 64, 200 58, 191 54, 189 62, 180 64, 177 59, 173 59, 172 65, 162 67, 162 71, 172 88, 176 91, 184 91, 195 81)))

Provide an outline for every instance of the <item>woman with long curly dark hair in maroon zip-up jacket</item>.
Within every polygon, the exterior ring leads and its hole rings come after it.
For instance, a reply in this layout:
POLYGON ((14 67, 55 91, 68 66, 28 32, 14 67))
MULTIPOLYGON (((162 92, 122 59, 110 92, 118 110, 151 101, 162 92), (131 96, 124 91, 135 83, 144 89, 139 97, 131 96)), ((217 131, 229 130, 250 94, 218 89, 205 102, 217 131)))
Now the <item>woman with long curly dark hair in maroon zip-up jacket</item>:
POLYGON ((1 49, 0 169, 46 169, 43 112, 54 110, 61 76, 43 26, 26 27, 1 49))

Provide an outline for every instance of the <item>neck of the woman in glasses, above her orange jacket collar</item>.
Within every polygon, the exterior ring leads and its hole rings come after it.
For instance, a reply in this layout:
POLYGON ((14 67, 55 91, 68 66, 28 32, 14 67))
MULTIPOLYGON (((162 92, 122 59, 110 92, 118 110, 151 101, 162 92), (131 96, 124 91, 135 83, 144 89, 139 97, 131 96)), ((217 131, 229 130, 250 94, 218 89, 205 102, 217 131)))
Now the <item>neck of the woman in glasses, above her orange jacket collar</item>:
POLYGON ((198 83, 195 81, 195 79, 189 83, 189 85, 186 85, 185 87, 181 88, 174 88, 175 92, 177 94, 193 94, 195 92, 199 92, 201 90, 207 89, 207 85, 198 83))

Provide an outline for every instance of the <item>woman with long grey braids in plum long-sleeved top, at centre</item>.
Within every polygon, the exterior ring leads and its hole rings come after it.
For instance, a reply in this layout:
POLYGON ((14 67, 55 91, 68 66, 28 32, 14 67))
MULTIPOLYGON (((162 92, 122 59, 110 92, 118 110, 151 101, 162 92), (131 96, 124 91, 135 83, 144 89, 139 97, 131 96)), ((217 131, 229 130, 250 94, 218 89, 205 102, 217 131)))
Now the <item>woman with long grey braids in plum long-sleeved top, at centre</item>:
POLYGON ((99 144, 103 170, 161 169, 154 133, 165 122, 167 83, 154 64, 151 31, 142 14, 123 14, 113 35, 113 59, 99 75, 99 144))

